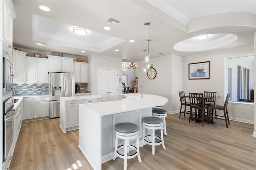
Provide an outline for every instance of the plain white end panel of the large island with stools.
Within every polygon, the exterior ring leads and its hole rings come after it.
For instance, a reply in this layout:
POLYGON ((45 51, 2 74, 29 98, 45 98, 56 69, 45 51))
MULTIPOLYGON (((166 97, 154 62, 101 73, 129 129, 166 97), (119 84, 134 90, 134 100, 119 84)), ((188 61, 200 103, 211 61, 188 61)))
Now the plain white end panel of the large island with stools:
POLYGON ((95 170, 101 169, 101 142, 101 116, 80 105, 79 148, 95 170))

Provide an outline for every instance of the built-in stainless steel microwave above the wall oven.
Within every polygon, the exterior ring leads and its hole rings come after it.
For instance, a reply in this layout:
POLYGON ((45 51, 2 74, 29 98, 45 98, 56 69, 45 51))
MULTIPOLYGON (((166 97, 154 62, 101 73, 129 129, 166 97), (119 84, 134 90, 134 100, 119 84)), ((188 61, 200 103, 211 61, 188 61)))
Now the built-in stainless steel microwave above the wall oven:
POLYGON ((3 95, 7 95, 13 92, 13 59, 6 51, 3 56, 3 95))

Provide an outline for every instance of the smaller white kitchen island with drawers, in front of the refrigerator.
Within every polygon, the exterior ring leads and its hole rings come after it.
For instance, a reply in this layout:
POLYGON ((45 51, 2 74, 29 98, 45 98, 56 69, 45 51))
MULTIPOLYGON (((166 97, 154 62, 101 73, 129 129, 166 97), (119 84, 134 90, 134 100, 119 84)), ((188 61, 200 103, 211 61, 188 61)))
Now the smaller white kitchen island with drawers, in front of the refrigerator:
POLYGON ((103 96, 60 97, 60 128, 64 133, 79 128, 79 104, 102 102, 103 96))

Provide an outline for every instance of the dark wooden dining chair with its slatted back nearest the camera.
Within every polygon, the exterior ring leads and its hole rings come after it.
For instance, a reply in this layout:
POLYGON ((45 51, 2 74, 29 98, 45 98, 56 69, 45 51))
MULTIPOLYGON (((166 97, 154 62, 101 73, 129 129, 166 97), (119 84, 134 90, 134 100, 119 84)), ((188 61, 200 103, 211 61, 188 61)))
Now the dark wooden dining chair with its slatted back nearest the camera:
POLYGON ((190 101, 190 116, 189 116, 189 123, 190 120, 193 119, 202 121, 202 126, 204 126, 204 120, 206 119, 208 123, 210 123, 209 117, 209 105, 205 105, 205 99, 203 93, 188 93, 189 101, 190 101), (193 109, 194 109, 194 118, 193 118, 193 109), (207 109, 207 116, 206 111, 207 109), (198 115, 197 115, 198 110, 198 115))

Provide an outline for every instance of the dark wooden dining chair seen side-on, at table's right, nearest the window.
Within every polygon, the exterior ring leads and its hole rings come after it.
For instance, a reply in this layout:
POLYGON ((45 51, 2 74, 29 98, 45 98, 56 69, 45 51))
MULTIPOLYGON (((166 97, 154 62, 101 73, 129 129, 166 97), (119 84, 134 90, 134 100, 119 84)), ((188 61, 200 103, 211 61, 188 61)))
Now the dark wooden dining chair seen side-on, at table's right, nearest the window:
MULTIPOLYGON (((225 122, 226 122, 226 127, 228 127, 228 125, 230 125, 229 124, 229 117, 228 117, 228 100, 229 100, 229 97, 230 97, 230 93, 228 93, 227 96, 226 96, 224 106, 221 106, 221 105, 211 105, 210 106, 210 112, 213 109, 222 110, 224 112, 224 116, 222 116, 222 115, 217 115, 217 113, 215 111, 215 118, 217 119, 218 117, 224 117, 225 122)), ((211 117, 213 117, 213 115, 214 115, 214 113, 211 113, 211 117)))

